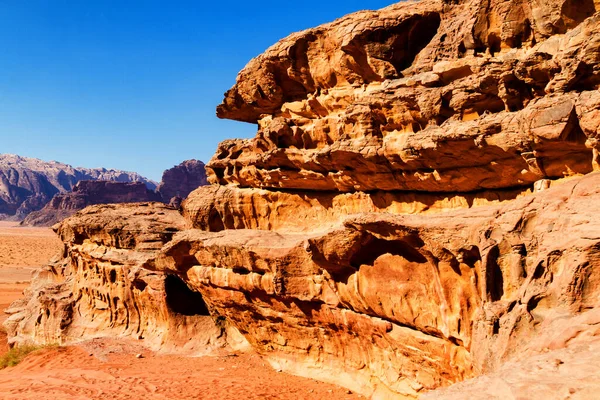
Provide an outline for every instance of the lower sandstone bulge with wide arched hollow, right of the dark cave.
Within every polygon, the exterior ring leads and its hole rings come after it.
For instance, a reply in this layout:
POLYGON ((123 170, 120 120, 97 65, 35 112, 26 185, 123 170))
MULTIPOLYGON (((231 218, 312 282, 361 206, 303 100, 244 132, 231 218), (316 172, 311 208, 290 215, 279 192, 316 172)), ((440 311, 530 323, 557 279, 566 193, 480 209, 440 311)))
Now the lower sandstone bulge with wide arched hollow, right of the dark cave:
MULTIPOLYGON (((536 354, 533 338, 598 307, 599 184, 595 173, 503 205, 358 214, 326 232, 184 231, 157 260, 275 362, 416 397, 536 354)), ((597 324, 561 340, 600 340, 597 324)))

